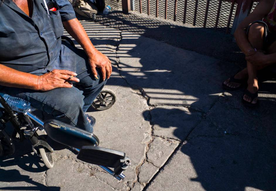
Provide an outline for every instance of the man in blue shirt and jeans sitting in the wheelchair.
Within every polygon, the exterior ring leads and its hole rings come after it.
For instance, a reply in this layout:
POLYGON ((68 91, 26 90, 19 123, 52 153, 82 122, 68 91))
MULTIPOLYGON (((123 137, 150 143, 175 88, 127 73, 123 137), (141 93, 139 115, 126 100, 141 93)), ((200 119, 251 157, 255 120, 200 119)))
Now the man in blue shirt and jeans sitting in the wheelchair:
POLYGON ((0 92, 93 132, 85 112, 111 72, 68 0, 0 0, 0 92), (62 42, 63 27, 84 50, 62 42))

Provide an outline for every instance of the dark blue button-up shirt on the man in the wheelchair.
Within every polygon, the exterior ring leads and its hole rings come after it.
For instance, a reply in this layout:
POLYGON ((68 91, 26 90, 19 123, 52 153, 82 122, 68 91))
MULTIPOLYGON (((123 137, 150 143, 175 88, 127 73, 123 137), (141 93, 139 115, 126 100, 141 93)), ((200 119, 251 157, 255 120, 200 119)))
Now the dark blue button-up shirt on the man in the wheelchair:
POLYGON ((76 70, 74 52, 61 43, 62 22, 76 18, 74 9, 68 0, 53 2, 57 11, 48 15, 43 0, 33 0, 30 18, 12 0, 0 0, 0 64, 33 74, 76 70))

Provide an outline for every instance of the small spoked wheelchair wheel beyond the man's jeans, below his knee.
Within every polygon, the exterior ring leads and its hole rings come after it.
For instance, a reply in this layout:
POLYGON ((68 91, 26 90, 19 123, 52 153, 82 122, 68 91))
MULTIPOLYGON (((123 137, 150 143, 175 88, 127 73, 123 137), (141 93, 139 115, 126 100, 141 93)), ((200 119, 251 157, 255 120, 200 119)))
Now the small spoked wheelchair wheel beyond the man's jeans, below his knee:
POLYGON ((106 109, 109 109, 113 104, 116 102, 116 94, 112 90, 109 89, 103 89, 94 102, 92 103, 92 107, 95 110, 103 111, 106 109))

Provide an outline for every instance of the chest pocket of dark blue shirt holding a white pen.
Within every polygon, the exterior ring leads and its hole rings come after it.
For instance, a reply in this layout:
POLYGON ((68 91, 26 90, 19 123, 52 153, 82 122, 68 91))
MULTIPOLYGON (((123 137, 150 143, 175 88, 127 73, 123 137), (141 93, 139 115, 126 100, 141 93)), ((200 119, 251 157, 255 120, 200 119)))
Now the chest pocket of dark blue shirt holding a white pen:
POLYGON ((54 31, 54 35, 56 38, 59 38, 63 35, 63 25, 61 16, 59 13, 59 6, 57 5, 56 1, 54 1, 54 7, 57 9, 56 11, 49 10, 49 20, 52 26, 52 30, 54 31))

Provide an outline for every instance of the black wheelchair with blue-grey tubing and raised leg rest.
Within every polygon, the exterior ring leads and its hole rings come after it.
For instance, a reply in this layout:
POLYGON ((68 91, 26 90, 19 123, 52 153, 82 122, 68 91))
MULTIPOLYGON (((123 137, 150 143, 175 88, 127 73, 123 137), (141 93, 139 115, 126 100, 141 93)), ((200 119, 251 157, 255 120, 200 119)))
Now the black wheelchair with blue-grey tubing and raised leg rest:
MULTIPOLYGON (((74 46, 69 37, 62 36, 62 40, 67 40, 74 46)), ((102 111, 113 106, 115 101, 116 94, 112 90, 103 89, 91 107, 102 111)), ((131 161, 124 152, 99 147, 100 141, 96 135, 67 123, 55 119, 42 121, 34 114, 35 111, 37 109, 33 108, 28 101, 0 93, 0 112, 2 113, 0 117, 0 156, 12 155, 15 152, 14 141, 22 142, 28 139, 32 144, 33 152, 42 158, 47 168, 52 168, 54 166, 52 157, 54 150, 46 139, 37 133, 38 130, 45 130, 47 136, 52 140, 77 151, 77 159, 100 166, 117 180, 125 178, 123 171, 128 168, 131 161), (9 122, 13 126, 11 135, 5 131, 9 122)))

